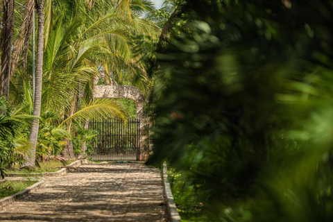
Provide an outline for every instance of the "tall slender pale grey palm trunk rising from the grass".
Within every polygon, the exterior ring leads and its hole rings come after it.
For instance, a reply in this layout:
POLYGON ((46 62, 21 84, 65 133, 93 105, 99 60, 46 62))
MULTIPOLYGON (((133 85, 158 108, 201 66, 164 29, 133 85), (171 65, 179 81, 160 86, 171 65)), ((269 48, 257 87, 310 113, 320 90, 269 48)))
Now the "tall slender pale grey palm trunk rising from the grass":
MULTIPOLYGON (((44 0, 38 1, 38 31, 37 31, 37 60, 36 60, 36 78, 35 78, 35 98, 33 101, 33 115, 40 117, 40 108, 42 105, 42 78, 43 78, 43 53, 44 53, 44 0)), ((27 158, 26 167, 34 167, 36 159, 36 145, 38 137, 38 128, 40 119, 33 119, 29 140, 31 142, 30 156, 27 158)))

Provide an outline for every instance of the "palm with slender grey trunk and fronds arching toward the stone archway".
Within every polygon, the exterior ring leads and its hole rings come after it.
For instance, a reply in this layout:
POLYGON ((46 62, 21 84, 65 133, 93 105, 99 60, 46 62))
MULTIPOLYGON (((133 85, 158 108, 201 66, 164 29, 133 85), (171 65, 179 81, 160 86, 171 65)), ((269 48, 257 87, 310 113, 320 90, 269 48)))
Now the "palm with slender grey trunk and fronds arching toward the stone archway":
MULTIPOLYGON (((43 1, 44 2, 44 1, 43 1)), ((138 1, 139 2, 139 1, 138 1)), ((40 5, 37 6, 40 10, 40 5)), ((83 1, 45 1, 44 4, 44 60, 38 56, 40 44, 40 12, 38 12, 37 71, 42 71, 42 96, 38 98, 36 72, 35 103, 33 114, 52 110, 64 121, 63 126, 71 132, 72 119, 85 119, 94 116, 123 117, 121 107, 113 101, 99 101, 92 98, 94 81, 99 78, 97 67, 113 71, 146 82, 146 67, 133 49, 133 35, 153 35, 158 39, 159 28, 147 19, 139 18, 139 4, 135 3, 133 13, 124 13, 111 1, 91 3, 83 1), (51 4, 51 5, 50 5, 51 4), (87 7, 88 6, 88 7, 87 7), (41 63, 42 62, 42 63, 41 63), (41 69, 42 64, 42 69, 41 69), (120 71, 119 71, 120 70, 120 71), (80 93, 81 92, 81 93, 80 93), (78 98, 84 96, 83 110, 78 110, 78 98), (40 105, 39 110, 37 106, 40 105)), ((143 6, 141 8, 144 8, 143 6)), ((18 71, 18 70, 17 70, 18 71)), ((109 72, 108 72, 109 73, 109 72)), ((22 75, 17 75, 13 90, 19 92, 22 75)), ((13 82, 13 83, 14 83, 13 82)), ((142 84, 144 85, 144 84, 142 84)), ((39 84, 39 87, 41 83, 39 84)), ((14 92, 14 91, 13 91, 14 92)), ((57 123, 55 123, 57 124, 57 123)), ((58 123, 59 124, 59 123, 58 123)), ((74 128, 75 129, 75 128, 74 128)), ((33 149, 27 158, 26 166, 35 164, 35 144, 38 134, 38 120, 34 120, 29 137, 33 149)))

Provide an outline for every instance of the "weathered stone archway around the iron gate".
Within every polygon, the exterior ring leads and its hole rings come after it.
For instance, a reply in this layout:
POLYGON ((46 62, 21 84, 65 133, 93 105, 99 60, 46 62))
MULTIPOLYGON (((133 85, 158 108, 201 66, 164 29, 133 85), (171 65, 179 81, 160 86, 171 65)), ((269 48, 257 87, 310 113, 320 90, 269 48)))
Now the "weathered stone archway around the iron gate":
MULTIPOLYGON (((101 73, 103 77, 103 73, 101 73)), ((136 104, 136 116, 140 120, 140 160, 144 160, 149 149, 149 118, 144 114, 144 103, 146 98, 144 94, 134 86, 118 85, 111 78, 112 83, 108 85, 95 85, 94 98, 109 98, 109 99, 132 99, 136 104)))

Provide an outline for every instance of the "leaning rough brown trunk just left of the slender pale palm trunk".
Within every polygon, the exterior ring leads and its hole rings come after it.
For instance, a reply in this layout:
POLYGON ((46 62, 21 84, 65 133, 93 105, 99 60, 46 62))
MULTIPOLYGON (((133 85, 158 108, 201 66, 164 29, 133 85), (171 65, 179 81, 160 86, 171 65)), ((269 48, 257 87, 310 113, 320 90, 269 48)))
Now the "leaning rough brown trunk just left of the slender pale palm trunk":
MULTIPOLYGON (((23 24, 19 30, 19 35, 15 40, 14 50, 12 51, 12 60, 10 64, 10 76, 15 72, 17 62, 19 62, 19 55, 22 51, 28 51, 30 42, 31 31, 33 31, 33 13, 35 10, 35 1, 27 0, 26 9, 24 10, 23 24)), ((26 53, 24 53, 26 55, 26 53)), ((25 60, 26 58, 24 58, 25 60)), ((24 66, 25 67, 25 66, 24 66)))

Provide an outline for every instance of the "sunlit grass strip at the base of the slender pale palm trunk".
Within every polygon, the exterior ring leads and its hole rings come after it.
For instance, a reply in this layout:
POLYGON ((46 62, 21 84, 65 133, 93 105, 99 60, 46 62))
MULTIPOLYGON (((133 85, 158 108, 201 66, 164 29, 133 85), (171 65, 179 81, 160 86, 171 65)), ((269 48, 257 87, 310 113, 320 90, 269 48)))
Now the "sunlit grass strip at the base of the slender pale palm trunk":
MULTIPOLYGON (((71 164, 74 161, 67 160, 65 165, 71 164)), ((12 167, 6 171, 6 173, 50 173, 56 172, 63 167, 64 164, 60 161, 47 161, 47 162, 40 162, 40 167, 35 167, 35 170, 30 171, 28 169, 19 169, 18 166, 12 167)))

